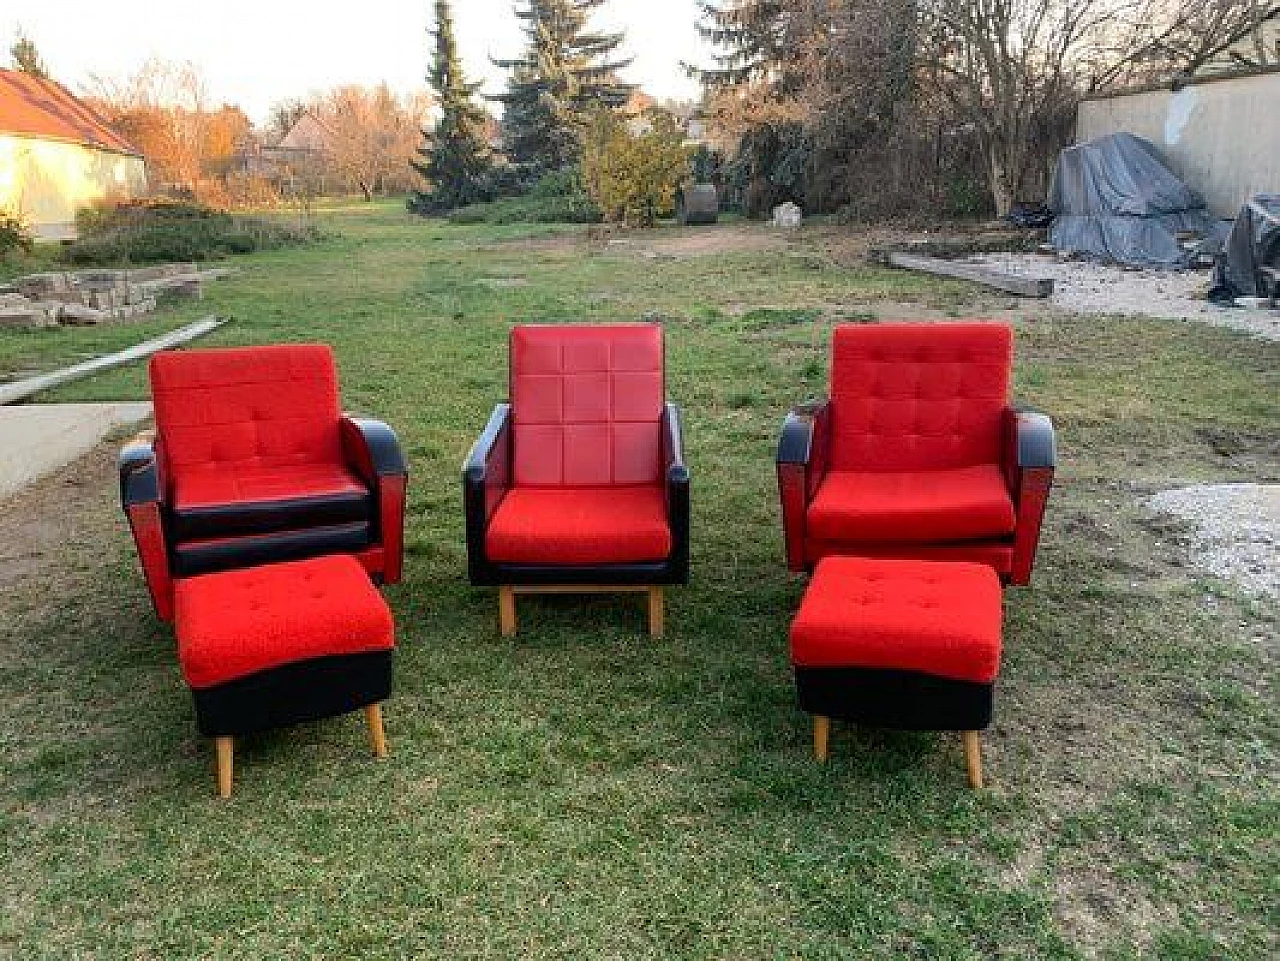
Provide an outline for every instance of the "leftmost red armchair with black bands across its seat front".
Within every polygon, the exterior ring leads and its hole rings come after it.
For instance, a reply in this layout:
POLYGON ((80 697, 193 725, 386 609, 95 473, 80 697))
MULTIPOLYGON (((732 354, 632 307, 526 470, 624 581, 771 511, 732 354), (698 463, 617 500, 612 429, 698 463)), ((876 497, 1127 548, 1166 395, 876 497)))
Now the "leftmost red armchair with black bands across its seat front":
POLYGON ((407 470, 379 421, 343 416, 323 345, 151 358, 156 433, 120 452, 120 499, 156 613, 175 578, 320 554, 396 584, 407 470))

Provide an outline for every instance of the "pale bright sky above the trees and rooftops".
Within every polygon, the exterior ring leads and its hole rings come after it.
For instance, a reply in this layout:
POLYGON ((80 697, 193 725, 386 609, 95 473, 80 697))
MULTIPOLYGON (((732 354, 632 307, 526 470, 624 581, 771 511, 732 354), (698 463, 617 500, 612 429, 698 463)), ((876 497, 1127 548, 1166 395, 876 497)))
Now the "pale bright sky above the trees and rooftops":
MULTIPOLYGON (((502 90, 490 56, 522 47, 512 0, 454 0, 467 77, 502 90)), ((431 0, 0 0, 0 40, 20 28, 55 79, 83 92, 91 78, 123 78, 151 56, 192 61, 215 102, 239 105, 265 122, 273 104, 342 83, 387 81, 425 87, 431 0)), ((659 99, 692 99, 698 86, 681 60, 704 63, 695 0, 608 0, 593 26, 623 28, 635 63, 623 73, 659 99)))

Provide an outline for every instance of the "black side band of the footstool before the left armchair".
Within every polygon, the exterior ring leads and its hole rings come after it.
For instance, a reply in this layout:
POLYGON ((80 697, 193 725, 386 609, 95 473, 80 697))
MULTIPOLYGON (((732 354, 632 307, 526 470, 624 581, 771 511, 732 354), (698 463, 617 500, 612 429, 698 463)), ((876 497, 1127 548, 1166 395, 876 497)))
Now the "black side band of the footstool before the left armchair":
POLYGON ((192 690, 196 726, 207 737, 252 735, 347 714, 392 692, 392 651, 339 654, 192 690))

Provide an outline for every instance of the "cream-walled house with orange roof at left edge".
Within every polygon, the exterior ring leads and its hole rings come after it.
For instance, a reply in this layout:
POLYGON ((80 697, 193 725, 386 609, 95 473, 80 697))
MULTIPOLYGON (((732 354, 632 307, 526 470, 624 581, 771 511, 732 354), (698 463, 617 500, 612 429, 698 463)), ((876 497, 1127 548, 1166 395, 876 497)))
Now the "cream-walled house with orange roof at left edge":
POLYGON ((146 191, 142 155, 99 111, 55 81, 0 69, 0 210, 61 238, 79 207, 146 191))

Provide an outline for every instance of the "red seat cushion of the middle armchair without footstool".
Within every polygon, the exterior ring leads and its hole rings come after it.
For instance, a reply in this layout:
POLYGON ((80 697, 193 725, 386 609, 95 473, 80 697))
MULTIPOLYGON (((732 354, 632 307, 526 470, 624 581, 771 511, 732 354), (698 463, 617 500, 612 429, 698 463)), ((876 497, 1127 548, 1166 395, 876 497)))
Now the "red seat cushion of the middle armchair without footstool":
POLYGON ((485 534, 492 560, 622 564, 671 554, 666 491, 639 488, 515 488, 485 534))

